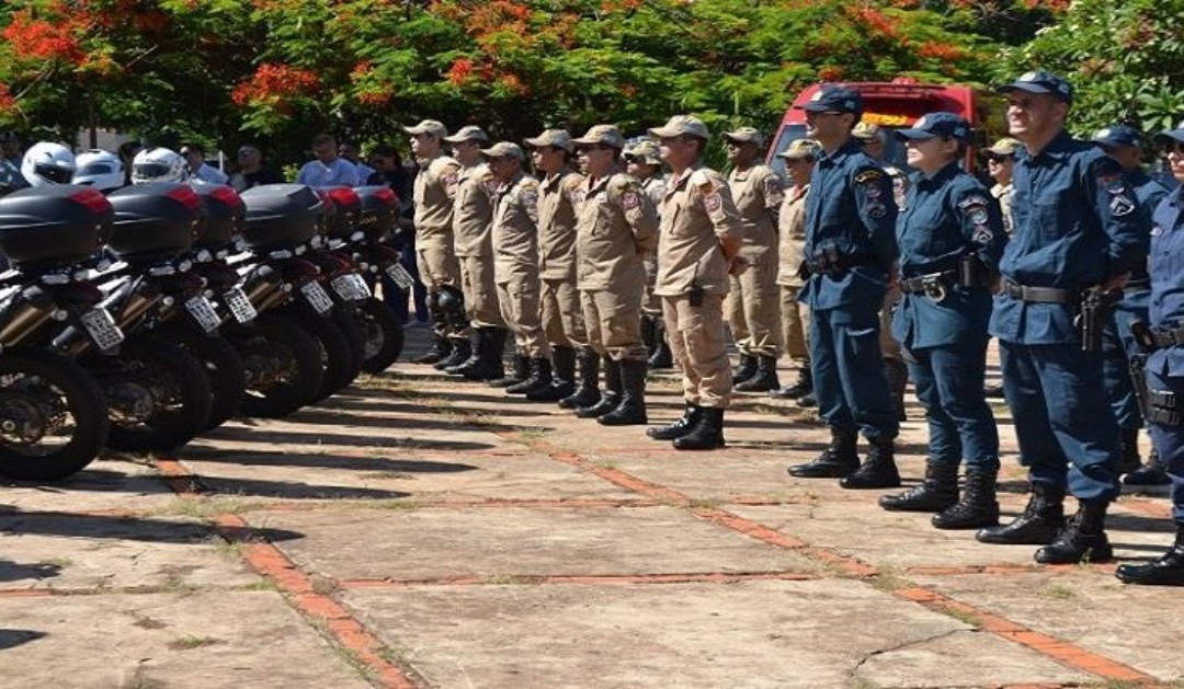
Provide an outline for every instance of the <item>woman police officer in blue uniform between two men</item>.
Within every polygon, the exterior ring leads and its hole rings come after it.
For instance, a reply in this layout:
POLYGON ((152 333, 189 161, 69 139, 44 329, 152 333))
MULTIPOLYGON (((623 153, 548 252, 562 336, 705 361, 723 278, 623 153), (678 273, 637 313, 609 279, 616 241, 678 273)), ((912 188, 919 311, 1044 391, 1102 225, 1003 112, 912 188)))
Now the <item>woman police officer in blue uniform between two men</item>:
POLYGON ((918 172, 896 219, 903 298, 893 336, 929 420, 929 457, 924 483, 883 496, 880 506, 938 513, 933 524, 944 529, 995 526, 999 432, 983 384, 991 278, 1008 237, 1003 217, 986 187, 959 166, 971 140, 965 120, 932 112, 896 137, 918 172), (963 457, 966 494, 959 501, 963 457))

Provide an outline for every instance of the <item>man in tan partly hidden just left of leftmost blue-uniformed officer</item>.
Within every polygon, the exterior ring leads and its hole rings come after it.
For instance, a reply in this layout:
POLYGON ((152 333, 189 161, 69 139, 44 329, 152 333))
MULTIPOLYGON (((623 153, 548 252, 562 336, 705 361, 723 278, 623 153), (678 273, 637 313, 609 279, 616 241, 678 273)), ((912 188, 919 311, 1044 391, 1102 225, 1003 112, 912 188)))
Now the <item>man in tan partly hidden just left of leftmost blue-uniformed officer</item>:
POLYGON ((781 288, 781 335, 785 353, 798 369, 798 379, 792 385, 773 391, 772 397, 799 399, 813 392, 810 378, 810 349, 806 333, 810 331, 810 309, 798 303, 802 290, 802 262, 805 259, 806 197, 810 194, 810 173, 822 156, 822 146, 811 139, 799 139, 778 156, 785 159, 790 188, 785 191, 785 202, 778 226, 777 284, 781 288))

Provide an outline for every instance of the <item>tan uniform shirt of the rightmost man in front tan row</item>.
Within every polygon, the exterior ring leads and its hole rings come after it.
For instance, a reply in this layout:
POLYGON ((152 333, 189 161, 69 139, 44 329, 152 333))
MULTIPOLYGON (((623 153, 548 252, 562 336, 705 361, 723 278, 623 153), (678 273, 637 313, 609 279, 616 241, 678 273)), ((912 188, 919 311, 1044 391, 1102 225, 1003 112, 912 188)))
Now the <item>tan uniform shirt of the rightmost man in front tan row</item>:
POLYGON ((676 297, 693 284, 728 294, 728 262, 720 239, 742 239, 744 225, 723 175, 697 166, 684 170, 669 181, 658 213, 662 237, 654 294, 676 297))

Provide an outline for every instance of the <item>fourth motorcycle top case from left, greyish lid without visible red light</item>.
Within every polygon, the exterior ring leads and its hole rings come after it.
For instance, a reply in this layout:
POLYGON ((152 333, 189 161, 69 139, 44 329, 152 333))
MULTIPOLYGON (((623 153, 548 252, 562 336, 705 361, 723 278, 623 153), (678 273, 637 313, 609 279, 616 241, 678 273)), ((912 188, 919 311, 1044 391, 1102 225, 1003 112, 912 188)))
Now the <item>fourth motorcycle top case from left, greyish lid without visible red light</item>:
POLYGON ((326 204, 310 187, 263 185, 240 195, 246 204, 243 242, 251 249, 289 249, 322 230, 326 204))

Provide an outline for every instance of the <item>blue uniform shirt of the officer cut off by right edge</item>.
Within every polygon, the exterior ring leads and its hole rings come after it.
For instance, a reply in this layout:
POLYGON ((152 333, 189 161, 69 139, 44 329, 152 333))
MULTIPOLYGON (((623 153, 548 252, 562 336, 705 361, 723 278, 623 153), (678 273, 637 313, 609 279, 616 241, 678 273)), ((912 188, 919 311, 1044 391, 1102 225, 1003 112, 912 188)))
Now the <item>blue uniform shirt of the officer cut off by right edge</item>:
MULTIPOLYGON (((1151 231, 1151 305, 1156 327, 1184 324, 1184 187, 1177 187, 1156 207, 1151 231)), ((1147 368, 1159 375, 1184 375, 1184 348, 1160 349, 1147 358, 1147 368)))

